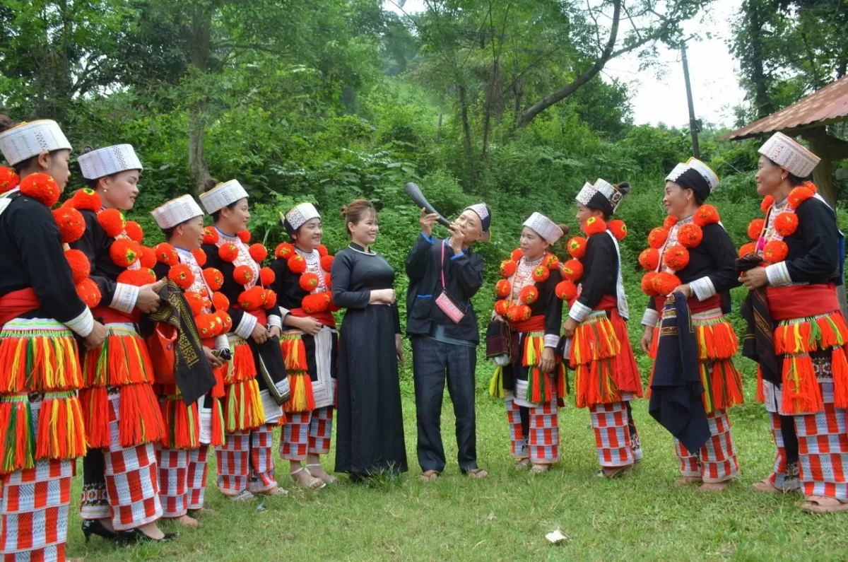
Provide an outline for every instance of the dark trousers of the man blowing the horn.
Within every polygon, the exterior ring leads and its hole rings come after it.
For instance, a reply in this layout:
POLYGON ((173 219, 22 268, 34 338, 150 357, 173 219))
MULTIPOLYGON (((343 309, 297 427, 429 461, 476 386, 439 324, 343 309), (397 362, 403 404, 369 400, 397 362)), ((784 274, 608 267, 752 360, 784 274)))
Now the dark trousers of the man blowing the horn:
POLYGON ((474 412, 474 373, 477 349, 412 338, 412 370, 416 384, 418 464, 421 470, 444 470, 442 447, 442 396, 444 381, 454 403, 457 460, 462 472, 477 469, 477 421, 474 412))

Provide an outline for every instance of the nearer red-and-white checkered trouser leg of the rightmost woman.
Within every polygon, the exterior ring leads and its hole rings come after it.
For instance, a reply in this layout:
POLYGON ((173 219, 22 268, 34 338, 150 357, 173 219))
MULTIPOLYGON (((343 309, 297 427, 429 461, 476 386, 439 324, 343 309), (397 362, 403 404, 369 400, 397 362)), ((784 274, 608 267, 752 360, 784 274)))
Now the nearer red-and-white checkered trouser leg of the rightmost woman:
POLYGON ((834 407, 832 391, 822 395, 823 412, 794 416, 801 492, 848 503, 848 410, 834 407))

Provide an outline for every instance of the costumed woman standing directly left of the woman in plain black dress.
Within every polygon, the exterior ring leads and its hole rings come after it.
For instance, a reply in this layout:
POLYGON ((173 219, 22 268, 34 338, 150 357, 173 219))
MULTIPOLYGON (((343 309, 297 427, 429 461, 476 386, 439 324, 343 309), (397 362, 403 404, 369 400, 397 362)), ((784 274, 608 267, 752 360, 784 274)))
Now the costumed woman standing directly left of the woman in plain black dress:
POLYGON ((320 488, 334 481, 321 467, 321 455, 330 452, 336 403, 338 334, 330 293, 333 257, 321 244, 321 215, 311 203, 295 206, 281 216, 281 223, 292 241, 276 248, 271 269, 292 398, 286 403, 280 458, 289 461, 298 486, 320 488))

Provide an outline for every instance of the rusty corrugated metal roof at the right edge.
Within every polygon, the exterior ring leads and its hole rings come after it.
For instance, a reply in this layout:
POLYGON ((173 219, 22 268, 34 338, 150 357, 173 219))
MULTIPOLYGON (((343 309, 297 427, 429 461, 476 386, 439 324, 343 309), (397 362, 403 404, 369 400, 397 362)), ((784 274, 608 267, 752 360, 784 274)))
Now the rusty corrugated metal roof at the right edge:
POLYGON ((828 125, 845 119, 848 119, 848 76, 828 84, 789 107, 731 132, 725 138, 739 140, 768 132, 786 132, 808 126, 828 125))

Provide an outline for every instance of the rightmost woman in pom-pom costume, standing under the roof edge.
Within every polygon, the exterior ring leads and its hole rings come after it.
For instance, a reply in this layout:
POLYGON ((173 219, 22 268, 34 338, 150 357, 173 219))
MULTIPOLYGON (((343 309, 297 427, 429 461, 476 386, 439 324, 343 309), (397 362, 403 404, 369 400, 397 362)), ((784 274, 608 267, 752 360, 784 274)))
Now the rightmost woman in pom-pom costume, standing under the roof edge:
POLYGON ((778 451, 773 473, 754 488, 800 488, 802 509, 848 511, 848 329, 835 290, 843 237, 833 209, 804 180, 816 155, 780 132, 760 155, 756 191, 766 216, 751 222, 756 241, 740 251, 740 261, 757 265, 740 278, 750 289, 744 354, 759 363, 757 399, 778 451))

